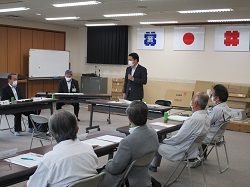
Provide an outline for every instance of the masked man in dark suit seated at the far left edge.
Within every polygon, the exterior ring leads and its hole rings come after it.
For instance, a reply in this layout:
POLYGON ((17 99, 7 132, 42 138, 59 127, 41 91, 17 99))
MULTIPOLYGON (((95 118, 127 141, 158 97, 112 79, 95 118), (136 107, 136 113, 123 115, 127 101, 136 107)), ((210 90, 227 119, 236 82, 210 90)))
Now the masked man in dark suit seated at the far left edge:
MULTIPOLYGON (((17 75, 15 73, 11 73, 7 77, 8 79, 8 84, 4 87, 2 87, 2 96, 1 100, 11 100, 13 97, 14 100, 18 99, 23 99, 21 96, 21 91, 20 88, 17 86, 17 75)), ((22 126, 21 126, 21 119, 22 119, 22 114, 25 116, 28 116, 32 113, 36 113, 35 111, 30 111, 30 112, 23 112, 23 113, 17 113, 14 114, 14 130, 15 130, 15 135, 20 136, 21 131, 22 131, 22 126)), ((30 119, 28 118, 29 121, 29 132, 31 133, 33 131, 33 125, 30 119)))

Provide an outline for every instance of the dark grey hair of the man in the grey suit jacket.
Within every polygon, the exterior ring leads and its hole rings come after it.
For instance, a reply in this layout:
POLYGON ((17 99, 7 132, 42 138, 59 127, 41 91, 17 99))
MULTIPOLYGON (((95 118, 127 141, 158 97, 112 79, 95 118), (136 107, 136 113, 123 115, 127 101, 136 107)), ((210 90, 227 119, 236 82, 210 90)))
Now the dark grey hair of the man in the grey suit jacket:
POLYGON ((148 106, 141 101, 133 101, 126 109, 129 119, 136 125, 145 125, 148 119, 148 106))

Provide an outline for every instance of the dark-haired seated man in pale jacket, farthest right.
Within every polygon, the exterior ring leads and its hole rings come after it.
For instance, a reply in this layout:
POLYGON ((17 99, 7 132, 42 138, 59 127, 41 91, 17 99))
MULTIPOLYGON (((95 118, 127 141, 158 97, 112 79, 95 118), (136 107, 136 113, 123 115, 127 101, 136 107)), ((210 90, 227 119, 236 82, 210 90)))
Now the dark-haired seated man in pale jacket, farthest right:
MULTIPOLYGON (((203 149, 206 148, 206 143, 209 143, 215 135, 220 125, 228 121, 231 118, 231 110, 227 106, 228 91, 227 88, 221 84, 217 84, 213 87, 211 100, 213 107, 208 111, 208 117, 210 118, 210 128, 202 145, 203 149)), ((214 138, 215 141, 220 141, 225 130, 219 130, 218 134, 214 138)), ((206 158, 206 151, 204 157, 206 158)))

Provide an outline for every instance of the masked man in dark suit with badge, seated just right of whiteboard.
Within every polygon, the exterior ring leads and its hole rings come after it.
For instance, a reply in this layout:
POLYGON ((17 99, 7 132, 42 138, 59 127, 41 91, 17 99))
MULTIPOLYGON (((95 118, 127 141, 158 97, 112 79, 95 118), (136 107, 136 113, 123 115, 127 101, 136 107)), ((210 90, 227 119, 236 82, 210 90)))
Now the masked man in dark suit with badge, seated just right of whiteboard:
MULTIPOLYGON (((58 85, 58 93, 79 93, 78 81, 72 78, 73 72, 71 70, 65 71, 65 78, 60 80, 58 85)), ((67 100, 67 98, 60 98, 61 100, 67 100)), ((78 118, 79 114, 79 103, 71 103, 74 107, 74 114, 76 115, 77 121, 80 121, 78 118)), ((65 105, 63 102, 56 103, 56 110, 62 108, 65 105)))

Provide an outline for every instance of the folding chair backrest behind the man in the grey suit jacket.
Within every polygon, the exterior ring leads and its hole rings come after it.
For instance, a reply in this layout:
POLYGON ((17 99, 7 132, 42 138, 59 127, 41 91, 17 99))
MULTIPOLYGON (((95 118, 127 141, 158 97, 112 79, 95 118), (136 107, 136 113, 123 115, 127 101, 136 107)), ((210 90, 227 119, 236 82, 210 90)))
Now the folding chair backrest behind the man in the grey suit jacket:
POLYGON ((142 156, 141 158, 138 158, 137 160, 134 160, 134 161, 128 166, 128 168, 127 168, 127 170, 126 170, 126 172, 125 172, 125 175, 123 176, 123 179, 121 180, 121 182, 120 182, 120 184, 119 184, 118 187, 124 187, 124 186, 128 187, 128 186, 126 185, 126 183, 127 183, 126 181, 127 181, 127 179, 128 179, 128 175, 129 175, 131 169, 133 168, 133 166, 139 166, 139 167, 148 166, 148 165, 152 162, 154 156, 155 156, 155 151, 150 152, 150 153, 148 153, 148 154, 142 156))

